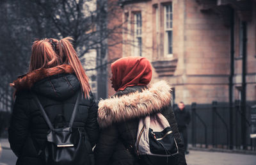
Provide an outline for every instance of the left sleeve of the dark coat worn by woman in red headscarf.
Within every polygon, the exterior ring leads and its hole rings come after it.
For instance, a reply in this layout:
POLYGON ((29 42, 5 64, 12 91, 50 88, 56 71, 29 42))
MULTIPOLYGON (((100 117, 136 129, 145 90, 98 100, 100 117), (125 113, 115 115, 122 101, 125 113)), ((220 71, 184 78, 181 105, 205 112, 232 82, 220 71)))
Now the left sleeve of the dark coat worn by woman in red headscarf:
POLYGON ((106 165, 109 163, 117 141, 118 129, 115 125, 100 131, 100 138, 94 150, 96 165, 106 165))

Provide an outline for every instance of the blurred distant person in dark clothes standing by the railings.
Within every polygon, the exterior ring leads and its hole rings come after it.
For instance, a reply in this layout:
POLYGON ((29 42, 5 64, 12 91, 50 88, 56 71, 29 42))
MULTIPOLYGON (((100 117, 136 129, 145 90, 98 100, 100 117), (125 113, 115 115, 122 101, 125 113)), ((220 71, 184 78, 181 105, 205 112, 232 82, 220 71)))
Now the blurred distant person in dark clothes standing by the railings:
POLYGON ((190 123, 190 113, 185 109, 184 102, 179 102, 178 107, 174 110, 175 117, 178 123, 181 137, 184 141, 185 153, 188 154, 188 130, 187 127, 190 123))

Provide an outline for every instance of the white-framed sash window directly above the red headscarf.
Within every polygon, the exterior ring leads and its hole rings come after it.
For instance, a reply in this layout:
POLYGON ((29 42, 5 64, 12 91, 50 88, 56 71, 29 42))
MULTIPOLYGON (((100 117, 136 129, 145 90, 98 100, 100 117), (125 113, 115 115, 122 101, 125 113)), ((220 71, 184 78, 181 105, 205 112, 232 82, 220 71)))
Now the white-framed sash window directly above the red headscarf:
POLYGON ((141 39, 141 13, 134 13, 134 45, 135 45, 135 55, 141 56, 142 54, 142 39, 141 39))

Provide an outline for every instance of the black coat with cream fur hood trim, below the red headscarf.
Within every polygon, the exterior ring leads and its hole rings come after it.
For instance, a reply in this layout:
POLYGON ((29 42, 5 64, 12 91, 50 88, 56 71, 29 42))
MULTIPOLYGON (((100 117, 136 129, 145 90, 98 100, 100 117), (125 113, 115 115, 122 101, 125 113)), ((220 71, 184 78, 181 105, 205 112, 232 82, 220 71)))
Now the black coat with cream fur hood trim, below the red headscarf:
POLYGON ((184 145, 170 101, 170 86, 164 81, 148 89, 144 86, 127 87, 124 91, 118 91, 114 97, 100 101, 98 121, 102 129, 95 148, 96 164, 138 164, 132 152, 138 122, 141 117, 158 112, 167 118, 179 146, 179 155, 175 155, 170 162, 186 164, 184 145))

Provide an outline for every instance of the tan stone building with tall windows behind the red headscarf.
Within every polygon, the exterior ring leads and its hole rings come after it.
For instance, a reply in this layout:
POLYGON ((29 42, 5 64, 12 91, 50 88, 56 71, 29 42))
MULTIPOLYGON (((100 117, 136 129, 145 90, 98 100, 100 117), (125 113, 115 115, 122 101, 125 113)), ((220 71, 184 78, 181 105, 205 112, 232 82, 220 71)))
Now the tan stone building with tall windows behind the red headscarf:
MULTIPOLYGON (((115 1, 115 0, 110 0, 115 1)), ((120 0, 119 39, 108 59, 145 56, 154 79, 173 86, 173 102, 256 100, 256 2, 120 0), (230 98, 230 99, 229 99, 230 98)), ((110 68, 108 68, 111 77, 110 68)), ((108 84, 108 93, 114 93, 108 84)))

